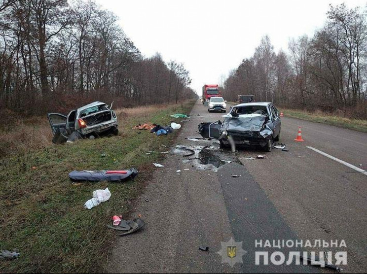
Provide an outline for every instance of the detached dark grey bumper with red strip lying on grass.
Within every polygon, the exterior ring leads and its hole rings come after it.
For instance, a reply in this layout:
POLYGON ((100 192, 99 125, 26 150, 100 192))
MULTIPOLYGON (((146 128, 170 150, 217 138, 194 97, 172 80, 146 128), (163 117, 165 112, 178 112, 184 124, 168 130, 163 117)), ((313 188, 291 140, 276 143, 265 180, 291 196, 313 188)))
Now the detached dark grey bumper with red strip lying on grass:
POLYGON ((119 171, 72 171, 69 173, 69 178, 73 182, 120 182, 128 179, 133 179, 138 175, 138 173, 139 172, 136 169, 119 171))

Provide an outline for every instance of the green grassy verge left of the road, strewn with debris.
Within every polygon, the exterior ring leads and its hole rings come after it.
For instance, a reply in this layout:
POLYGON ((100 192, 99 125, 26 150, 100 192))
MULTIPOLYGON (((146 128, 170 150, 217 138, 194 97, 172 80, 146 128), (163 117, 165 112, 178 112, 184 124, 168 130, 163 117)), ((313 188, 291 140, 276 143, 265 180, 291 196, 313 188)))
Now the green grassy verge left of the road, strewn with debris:
MULTIPOLYGON (((110 217, 127 216, 149 179, 157 154, 146 155, 169 145, 177 135, 157 137, 131 130, 152 122, 169 124, 174 113, 187 113, 194 102, 159 108, 117 110, 120 135, 73 144, 49 145, 28 153, 18 152, 0 159, 0 249, 17 249, 16 260, 1 262, 1 272, 70 273, 103 270, 111 243, 110 217), (105 153, 105 157, 101 154, 105 153), (36 167, 36 169, 33 169, 36 167), (73 170, 105 170, 137 167, 139 176, 126 183, 82 183, 72 185, 73 170), (108 187, 111 198, 91 210, 83 204, 92 192, 108 187)), ((144 219, 144 212, 142 218, 144 219)))

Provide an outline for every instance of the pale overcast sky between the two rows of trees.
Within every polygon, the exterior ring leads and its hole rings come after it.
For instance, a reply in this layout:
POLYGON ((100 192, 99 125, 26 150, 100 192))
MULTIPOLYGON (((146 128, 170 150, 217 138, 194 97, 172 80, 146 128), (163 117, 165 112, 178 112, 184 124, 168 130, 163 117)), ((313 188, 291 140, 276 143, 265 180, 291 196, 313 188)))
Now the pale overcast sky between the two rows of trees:
MULTIPOLYGON (((326 21, 329 4, 342 0, 96 0, 120 18, 120 25, 146 57, 184 63, 191 87, 204 84, 251 57, 268 34, 278 51, 291 37, 312 36, 326 21)), ((345 1, 366 7, 366 0, 345 1)))

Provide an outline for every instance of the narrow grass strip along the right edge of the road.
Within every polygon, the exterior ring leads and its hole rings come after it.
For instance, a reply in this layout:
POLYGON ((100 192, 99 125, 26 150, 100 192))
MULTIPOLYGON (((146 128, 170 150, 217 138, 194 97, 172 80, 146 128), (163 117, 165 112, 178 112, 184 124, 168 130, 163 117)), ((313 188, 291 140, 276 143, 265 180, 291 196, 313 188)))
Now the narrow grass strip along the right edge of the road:
POLYGON ((328 124, 331 126, 367 133, 367 120, 343 118, 339 116, 327 115, 322 112, 306 112, 294 109, 283 108, 279 109, 279 111, 283 111, 285 117, 298 118, 301 120, 328 124))

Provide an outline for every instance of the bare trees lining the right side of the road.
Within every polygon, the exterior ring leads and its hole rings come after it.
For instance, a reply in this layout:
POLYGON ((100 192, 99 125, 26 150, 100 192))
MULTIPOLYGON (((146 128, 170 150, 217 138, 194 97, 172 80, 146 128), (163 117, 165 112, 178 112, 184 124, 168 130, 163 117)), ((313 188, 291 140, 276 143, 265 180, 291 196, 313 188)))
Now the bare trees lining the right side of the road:
POLYGON ((367 10, 332 6, 313 37, 275 53, 268 35, 224 81, 227 100, 255 95, 280 106, 367 118, 367 10))

